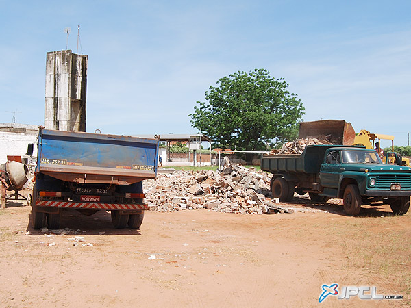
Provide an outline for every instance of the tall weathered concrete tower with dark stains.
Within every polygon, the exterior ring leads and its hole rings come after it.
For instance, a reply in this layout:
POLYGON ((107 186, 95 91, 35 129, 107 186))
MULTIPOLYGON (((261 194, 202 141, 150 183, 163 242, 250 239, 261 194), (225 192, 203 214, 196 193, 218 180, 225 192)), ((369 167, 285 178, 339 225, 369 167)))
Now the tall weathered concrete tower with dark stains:
POLYGON ((71 50, 47 53, 46 129, 86 131, 87 60, 71 50))

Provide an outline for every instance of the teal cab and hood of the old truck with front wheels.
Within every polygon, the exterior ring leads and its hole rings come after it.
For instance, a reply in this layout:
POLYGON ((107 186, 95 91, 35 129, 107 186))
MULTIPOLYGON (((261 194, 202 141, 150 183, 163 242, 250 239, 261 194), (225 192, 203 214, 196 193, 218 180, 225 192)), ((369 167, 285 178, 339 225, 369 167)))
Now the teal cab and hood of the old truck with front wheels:
POLYGON ((319 177, 322 187, 319 195, 343 198, 347 214, 357 215, 362 204, 377 205, 384 201, 395 214, 408 211, 411 168, 383 164, 375 150, 327 149, 319 177))

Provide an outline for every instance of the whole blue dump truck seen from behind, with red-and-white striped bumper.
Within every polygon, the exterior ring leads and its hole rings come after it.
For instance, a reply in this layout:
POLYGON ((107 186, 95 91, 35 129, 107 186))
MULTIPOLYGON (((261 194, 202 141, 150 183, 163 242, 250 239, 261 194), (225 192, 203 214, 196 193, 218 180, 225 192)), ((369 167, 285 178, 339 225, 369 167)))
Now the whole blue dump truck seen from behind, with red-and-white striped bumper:
MULTIPOLYGON (((60 228, 65 209, 110 211, 116 228, 140 228, 142 180, 157 175, 158 141, 99 133, 42 129, 32 193, 34 229, 60 228)), ((29 146, 32 150, 32 146, 29 146)))

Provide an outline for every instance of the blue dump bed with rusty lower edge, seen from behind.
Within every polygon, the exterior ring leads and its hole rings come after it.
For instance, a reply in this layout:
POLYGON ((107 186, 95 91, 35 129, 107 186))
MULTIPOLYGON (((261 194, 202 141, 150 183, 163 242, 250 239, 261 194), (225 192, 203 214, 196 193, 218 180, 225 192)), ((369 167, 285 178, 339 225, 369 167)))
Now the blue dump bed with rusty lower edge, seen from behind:
POLYGON ((128 185, 157 174, 158 139, 40 129, 36 172, 75 183, 128 185))

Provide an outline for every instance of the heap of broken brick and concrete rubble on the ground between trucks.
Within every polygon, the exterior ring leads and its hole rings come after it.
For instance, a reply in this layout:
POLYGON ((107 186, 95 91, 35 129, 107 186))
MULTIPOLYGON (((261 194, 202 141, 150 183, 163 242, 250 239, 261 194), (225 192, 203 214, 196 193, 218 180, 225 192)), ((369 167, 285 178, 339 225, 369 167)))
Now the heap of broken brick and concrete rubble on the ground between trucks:
POLYGON ((221 170, 184 171, 160 174, 144 182, 151 211, 214 209, 225 213, 273 214, 290 212, 271 198, 269 175, 255 168, 230 164, 225 157, 221 170))

